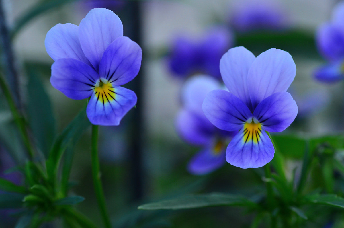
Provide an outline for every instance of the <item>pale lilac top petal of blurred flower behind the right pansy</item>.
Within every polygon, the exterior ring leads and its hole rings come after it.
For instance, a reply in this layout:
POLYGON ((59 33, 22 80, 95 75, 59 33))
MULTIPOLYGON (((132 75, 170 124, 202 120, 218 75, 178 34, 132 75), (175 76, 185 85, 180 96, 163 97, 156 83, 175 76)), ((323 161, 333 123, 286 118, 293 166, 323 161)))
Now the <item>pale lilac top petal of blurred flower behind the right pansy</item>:
POLYGON ((220 83, 214 77, 195 75, 188 79, 182 89, 183 107, 204 116, 202 105, 205 96, 212 90, 220 89, 220 83))

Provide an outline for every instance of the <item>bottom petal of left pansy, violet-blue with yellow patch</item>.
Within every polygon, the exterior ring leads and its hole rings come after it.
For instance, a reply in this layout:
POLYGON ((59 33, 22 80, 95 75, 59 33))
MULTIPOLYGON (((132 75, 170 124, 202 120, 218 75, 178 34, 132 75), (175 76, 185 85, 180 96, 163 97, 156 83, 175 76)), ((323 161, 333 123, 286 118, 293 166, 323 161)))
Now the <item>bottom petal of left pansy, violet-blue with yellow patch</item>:
POLYGON ((86 109, 87 117, 92 124, 117 126, 136 104, 137 96, 133 91, 120 86, 113 87, 113 92, 106 95, 92 93, 86 109))

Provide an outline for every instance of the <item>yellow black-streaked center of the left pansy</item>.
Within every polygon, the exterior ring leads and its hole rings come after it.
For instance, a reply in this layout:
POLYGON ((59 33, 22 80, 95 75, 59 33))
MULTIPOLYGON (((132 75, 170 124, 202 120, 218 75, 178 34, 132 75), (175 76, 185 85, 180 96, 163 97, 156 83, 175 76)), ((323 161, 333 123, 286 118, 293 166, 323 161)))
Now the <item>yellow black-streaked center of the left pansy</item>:
POLYGON ((106 104, 115 100, 115 88, 106 79, 100 79, 95 85, 94 95, 97 97, 98 101, 106 104))

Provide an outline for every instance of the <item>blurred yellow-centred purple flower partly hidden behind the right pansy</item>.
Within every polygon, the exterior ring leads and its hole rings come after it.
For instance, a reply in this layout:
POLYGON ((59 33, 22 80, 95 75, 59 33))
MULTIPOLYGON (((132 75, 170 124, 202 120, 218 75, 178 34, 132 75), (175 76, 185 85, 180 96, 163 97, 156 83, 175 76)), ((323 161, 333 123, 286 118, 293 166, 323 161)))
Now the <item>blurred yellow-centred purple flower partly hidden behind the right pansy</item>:
POLYGON ((220 88, 221 85, 217 80, 206 75, 193 76, 183 87, 183 108, 177 115, 176 128, 187 143, 202 147, 188 165, 192 174, 207 174, 221 167, 226 161, 225 145, 233 133, 215 127, 202 111, 206 94, 220 88))

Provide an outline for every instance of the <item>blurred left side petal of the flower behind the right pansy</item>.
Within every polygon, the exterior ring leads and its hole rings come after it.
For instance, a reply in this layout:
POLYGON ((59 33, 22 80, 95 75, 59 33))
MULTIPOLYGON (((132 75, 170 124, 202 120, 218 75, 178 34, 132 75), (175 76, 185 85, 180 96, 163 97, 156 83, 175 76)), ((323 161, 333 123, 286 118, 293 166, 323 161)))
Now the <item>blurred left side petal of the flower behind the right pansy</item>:
POLYGON ((196 115, 186 109, 178 113, 175 122, 176 130, 187 143, 205 146, 212 142, 216 128, 202 115, 196 115))

